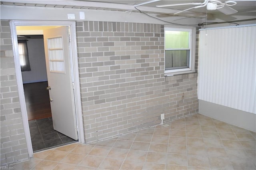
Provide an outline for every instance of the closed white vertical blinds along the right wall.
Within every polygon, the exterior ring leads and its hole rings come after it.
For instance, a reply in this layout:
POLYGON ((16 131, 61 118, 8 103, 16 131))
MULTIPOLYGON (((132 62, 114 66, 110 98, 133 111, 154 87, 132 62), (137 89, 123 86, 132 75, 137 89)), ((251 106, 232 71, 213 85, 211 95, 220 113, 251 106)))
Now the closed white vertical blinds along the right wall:
POLYGON ((199 36, 198 99, 256 113, 256 26, 199 36))

